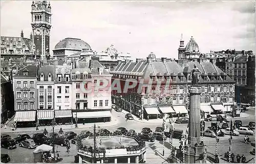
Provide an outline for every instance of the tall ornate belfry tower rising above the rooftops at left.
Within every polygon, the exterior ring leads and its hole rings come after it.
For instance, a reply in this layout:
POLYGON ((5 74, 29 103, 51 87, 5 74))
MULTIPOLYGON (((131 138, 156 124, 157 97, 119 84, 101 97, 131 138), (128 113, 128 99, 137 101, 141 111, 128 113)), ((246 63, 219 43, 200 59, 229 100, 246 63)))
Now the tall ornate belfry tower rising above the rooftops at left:
POLYGON ((32 40, 35 45, 36 58, 44 60, 49 54, 50 29, 51 29, 51 6, 46 1, 32 2, 32 40))

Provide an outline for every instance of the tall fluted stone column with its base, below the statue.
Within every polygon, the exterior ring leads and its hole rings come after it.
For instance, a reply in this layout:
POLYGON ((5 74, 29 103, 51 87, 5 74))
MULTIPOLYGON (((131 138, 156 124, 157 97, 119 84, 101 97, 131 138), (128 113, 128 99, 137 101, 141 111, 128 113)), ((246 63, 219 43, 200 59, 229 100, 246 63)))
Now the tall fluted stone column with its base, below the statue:
POLYGON ((204 159, 200 160, 199 156, 205 153, 205 147, 200 145, 201 137, 201 99, 202 89, 199 85, 192 85, 188 88, 190 93, 190 111, 188 123, 188 142, 185 145, 185 162, 186 163, 206 163, 206 154, 204 159))

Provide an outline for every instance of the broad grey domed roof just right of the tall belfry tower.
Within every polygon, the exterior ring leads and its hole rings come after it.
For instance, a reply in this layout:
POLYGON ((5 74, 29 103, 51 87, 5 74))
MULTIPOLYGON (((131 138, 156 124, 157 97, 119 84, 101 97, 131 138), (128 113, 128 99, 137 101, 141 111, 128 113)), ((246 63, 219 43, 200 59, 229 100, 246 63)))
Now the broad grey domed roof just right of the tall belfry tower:
POLYGON ((64 48, 81 50, 81 49, 91 49, 91 46, 87 42, 81 39, 65 38, 55 45, 55 49, 64 49, 64 48))

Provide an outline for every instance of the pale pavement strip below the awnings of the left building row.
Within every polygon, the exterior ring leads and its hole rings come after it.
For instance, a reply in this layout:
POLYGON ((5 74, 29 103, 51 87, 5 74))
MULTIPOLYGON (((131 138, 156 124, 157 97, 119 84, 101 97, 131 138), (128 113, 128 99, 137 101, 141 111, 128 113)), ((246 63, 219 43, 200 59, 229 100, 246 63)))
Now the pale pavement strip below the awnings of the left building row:
MULTIPOLYGON (((29 128, 17 128, 16 130, 12 131, 10 129, 11 124, 13 123, 13 119, 7 123, 7 128, 5 129, 4 127, 1 128, 1 133, 25 133, 25 132, 39 132, 39 131, 44 131, 44 129, 52 129, 52 126, 39 126, 38 129, 36 130, 36 127, 29 127, 29 128)), ((102 127, 112 127, 118 124, 118 119, 115 118, 112 115, 112 121, 111 122, 105 122, 105 123, 95 123, 97 128, 102 128, 102 127)), ((78 124, 77 128, 75 127, 76 125, 56 125, 54 129, 59 130, 62 128, 62 130, 71 130, 71 129, 88 129, 88 128, 93 128, 94 123, 86 123, 86 124, 78 124)))

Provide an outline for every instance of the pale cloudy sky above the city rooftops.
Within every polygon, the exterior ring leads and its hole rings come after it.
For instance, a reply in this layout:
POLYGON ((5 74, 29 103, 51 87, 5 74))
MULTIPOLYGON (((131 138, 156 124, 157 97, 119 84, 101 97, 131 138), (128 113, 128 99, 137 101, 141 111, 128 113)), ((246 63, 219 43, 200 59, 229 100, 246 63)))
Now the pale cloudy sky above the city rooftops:
MULTIPOLYGON (((80 38, 97 52, 113 44, 132 59, 154 52, 178 58, 181 34, 201 53, 255 52, 255 2, 47 1, 52 7, 50 51, 62 39, 80 38)), ((1 1, 1 36, 29 38, 32 1, 1 1)))

